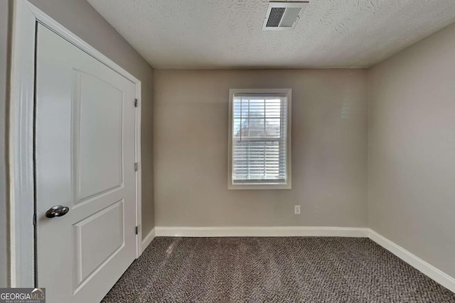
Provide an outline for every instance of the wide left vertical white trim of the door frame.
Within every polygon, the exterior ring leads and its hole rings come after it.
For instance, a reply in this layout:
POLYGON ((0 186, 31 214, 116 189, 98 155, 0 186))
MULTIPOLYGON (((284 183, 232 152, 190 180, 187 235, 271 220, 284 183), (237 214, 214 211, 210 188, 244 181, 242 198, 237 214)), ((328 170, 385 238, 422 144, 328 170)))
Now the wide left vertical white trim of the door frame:
POLYGON ((36 22, 25 1, 13 1, 13 5, 9 111, 9 285, 31 287, 34 285, 33 90, 36 22))

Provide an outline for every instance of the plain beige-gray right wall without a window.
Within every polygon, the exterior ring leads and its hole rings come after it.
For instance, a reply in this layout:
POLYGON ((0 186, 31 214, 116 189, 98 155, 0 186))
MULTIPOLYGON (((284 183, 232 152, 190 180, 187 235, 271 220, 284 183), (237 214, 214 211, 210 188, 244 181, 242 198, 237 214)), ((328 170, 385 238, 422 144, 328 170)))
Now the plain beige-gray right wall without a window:
POLYGON ((455 24, 368 78, 370 228, 455 277, 455 24))

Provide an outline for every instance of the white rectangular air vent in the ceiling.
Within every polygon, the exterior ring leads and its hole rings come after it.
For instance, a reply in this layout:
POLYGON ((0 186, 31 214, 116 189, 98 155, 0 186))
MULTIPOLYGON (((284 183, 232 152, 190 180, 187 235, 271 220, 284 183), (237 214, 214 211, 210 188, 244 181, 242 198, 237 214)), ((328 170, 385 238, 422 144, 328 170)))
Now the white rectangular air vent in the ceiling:
POLYGON ((262 31, 283 31, 294 28, 307 4, 308 1, 270 2, 262 31))

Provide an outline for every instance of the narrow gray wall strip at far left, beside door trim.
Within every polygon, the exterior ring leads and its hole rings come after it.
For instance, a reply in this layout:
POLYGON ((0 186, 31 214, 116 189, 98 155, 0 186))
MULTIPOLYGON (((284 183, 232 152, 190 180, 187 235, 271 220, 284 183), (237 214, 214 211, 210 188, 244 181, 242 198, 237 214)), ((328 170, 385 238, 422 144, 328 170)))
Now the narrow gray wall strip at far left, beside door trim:
POLYGON ((0 1, 0 287, 6 287, 6 90, 9 57, 9 3, 0 1))

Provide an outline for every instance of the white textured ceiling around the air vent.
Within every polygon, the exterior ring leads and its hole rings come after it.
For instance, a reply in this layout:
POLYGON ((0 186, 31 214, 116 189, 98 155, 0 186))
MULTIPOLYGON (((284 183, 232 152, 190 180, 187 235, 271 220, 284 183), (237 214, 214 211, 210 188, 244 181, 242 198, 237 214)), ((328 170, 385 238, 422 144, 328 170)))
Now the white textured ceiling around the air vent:
POLYGON ((155 68, 369 67, 455 21, 455 0, 310 0, 261 31, 267 0, 87 0, 155 68))

